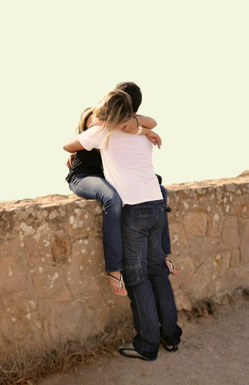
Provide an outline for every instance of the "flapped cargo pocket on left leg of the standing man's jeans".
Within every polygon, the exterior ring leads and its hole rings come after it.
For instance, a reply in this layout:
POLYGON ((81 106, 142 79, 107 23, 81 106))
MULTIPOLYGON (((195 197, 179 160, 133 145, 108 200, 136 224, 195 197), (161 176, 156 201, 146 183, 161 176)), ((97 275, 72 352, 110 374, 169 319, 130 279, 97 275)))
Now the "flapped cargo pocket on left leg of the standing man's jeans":
POLYGON ((126 286, 136 285, 142 280, 141 254, 125 256, 122 259, 124 284, 126 286))

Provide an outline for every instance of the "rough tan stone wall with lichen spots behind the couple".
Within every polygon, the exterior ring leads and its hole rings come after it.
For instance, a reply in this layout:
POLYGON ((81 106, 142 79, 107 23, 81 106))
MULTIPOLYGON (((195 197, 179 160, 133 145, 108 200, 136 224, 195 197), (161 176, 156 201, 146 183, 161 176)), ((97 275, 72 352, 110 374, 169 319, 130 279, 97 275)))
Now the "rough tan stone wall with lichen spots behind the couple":
MULTIPOLYGON (((178 309, 249 286, 249 173, 168 186, 178 309)), ((129 300, 110 290, 102 208, 76 195, 0 204, 0 347, 85 339, 129 300)))

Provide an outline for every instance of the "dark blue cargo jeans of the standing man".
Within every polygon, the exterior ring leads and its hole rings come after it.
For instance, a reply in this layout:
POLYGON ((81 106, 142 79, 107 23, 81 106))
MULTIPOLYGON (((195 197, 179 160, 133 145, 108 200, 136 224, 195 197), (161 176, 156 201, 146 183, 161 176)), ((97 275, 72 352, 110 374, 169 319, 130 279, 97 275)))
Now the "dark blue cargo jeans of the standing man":
POLYGON ((157 357, 160 333, 172 346, 180 343, 182 334, 162 250, 166 216, 163 200, 123 208, 123 275, 138 332, 133 346, 151 359, 157 357))

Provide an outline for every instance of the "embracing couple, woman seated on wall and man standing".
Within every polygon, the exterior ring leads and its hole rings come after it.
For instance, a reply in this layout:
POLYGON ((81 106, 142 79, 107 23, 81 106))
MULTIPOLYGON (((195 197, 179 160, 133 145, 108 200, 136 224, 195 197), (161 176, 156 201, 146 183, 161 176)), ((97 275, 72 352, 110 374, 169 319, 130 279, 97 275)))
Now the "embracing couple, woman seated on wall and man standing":
POLYGON ((160 342, 168 351, 177 350, 182 331, 168 279, 177 272, 166 259, 171 253, 167 191, 152 164, 153 144, 160 148, 161 139, 152 131, 155 120, 137 114, 141 99, 133 82, 118 84, 81 114, 76 139, 63 148, 73 154, 66 178, 70 189, 103 205, 111 288, 131 300, 138 334, 118 350, 127 357, 155 360, 160 342))

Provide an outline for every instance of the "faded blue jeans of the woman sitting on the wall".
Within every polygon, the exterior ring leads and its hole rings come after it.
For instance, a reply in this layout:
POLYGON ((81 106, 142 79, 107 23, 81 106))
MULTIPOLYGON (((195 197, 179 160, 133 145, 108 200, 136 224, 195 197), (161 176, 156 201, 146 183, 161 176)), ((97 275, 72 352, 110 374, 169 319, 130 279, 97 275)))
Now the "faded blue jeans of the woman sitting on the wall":
MULTIPOLYGON (((165 204, 167 190, 161 186, 165 204)), ((107 272, 123 270, 122 266, 122 202, 117 191, 100 175, 80 174, 73 176, 70 188, 78 196, 86 199, 97 199, 103 205, 103 246, 107 272)), ((162 236, 164 253, 171 254, 168 218, 162 236)))

